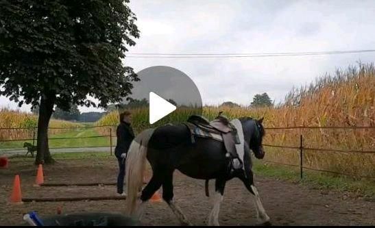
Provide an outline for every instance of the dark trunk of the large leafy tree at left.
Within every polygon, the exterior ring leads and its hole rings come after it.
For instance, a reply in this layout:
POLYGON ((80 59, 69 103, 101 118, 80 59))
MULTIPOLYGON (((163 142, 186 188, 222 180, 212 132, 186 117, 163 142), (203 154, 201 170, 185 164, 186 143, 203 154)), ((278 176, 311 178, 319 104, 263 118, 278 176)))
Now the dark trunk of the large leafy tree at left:
POLYGON ((48 147, 48 125, 53 112, 54 100, 54 96, 47 97, 45 94, 40 99, 35 164, 53 164, 54 162, 48 147))

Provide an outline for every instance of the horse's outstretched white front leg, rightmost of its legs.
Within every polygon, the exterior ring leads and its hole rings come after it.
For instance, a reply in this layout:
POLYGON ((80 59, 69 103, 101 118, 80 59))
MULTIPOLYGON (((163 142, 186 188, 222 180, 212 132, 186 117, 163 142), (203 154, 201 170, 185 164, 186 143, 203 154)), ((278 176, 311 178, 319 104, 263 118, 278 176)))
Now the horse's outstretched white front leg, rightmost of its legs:
POLYGON ((245 184, 247 190, 253 195, 254 199, 254 204, 255 204, 255 209, 256 209, 256 218, 258 219, 258 222, 261 225, 271 225, 269 216, 265 212, 265 208, 263 207, 263 203, 261 201, 261 197, 259 196, 258 190, 254 186, 254 181, 253 181, 253 175, 252 171, 247 172, 247 177, 243 175, 240 177, 241 181, 245 184))

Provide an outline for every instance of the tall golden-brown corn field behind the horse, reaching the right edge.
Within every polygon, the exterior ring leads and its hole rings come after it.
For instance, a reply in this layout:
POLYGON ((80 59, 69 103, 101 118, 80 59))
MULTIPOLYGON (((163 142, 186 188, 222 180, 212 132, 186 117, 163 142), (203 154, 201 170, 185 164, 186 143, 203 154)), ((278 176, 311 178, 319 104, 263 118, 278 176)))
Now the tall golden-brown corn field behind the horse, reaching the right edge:
MULTIPOLYGON (((375 126, 375 68, 373 64, 359 64, 335 75, 326 74, 310 86, 295 89, 276 107, 204 107, 203 116, 212 120, 219 111, 228 118, 265 117, 265 127, 294 126, 375 126)), ((136 132, 147 126, 147 109, 132 110, 136 132)), ((169 118, 186 121, 189 112, 173 112, 169 118)), ((158 125, 165 124, 169 118, 158 125)), ((117 125, 119 116, 112 112, 97 125, 117 125)), ((106 131, 106 129, 103 129, 106 131)), ((112 131, 114 132, 114 131, 112 131)), ((108 132, 101 132, 108 134, 108 132)), ((374 150, 375 129, 268 129, 265 144, 299 147, 300 135, 304 147, 324 149, 374 150)), ((299 153, 290 149, 266 148, 266 160, 299 164, 299 153)), ((351 175, 375 175, 375 155, 363 153, 335 153, 306 151, 304 164, 311 168, 327 169, 351 175)))

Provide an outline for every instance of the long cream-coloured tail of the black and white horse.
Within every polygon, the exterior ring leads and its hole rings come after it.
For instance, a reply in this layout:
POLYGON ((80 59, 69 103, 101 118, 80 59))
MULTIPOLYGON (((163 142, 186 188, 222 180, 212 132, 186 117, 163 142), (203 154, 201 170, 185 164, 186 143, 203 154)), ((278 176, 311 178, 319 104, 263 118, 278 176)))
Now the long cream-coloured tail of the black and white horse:
POLYGON ((143 176, 145 172, 147 144, 149 138, 154 133, 154 129, 146 129, 136 136, 130 144, 126 157, 126 186, 127 186, 127 207, 128 214, 132 215, 136 209, 136 199, 138 192, 143 185, 143 176))

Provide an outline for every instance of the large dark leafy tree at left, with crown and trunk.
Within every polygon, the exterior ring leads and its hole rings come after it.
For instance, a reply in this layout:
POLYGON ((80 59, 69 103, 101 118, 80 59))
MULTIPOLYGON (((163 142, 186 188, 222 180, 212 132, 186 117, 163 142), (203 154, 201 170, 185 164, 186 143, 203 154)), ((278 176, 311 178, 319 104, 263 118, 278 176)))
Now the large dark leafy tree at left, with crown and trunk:
POLYGON ((0 95, 36 106, 36 164, 52 163, 53 107, 106 107, 130 94, 137 75, 123 65, 139 31, 128 0, 0 2, 0 95), (1 87, 0 87, 1 88, 1 87), (99 100, 95 105, 87 94, 99 100))

